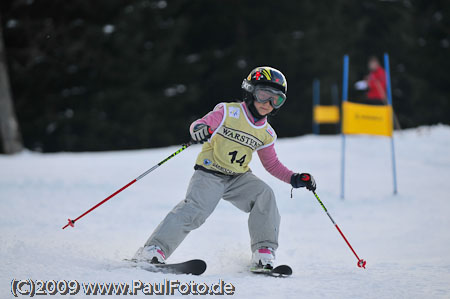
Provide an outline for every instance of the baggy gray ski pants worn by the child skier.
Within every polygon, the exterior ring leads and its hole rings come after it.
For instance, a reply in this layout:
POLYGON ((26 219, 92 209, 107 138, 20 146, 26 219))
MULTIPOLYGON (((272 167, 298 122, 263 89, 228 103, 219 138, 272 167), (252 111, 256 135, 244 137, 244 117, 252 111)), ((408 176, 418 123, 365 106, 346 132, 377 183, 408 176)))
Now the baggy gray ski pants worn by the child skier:
POLYGON ((253 173, 227 176, 196 170, 186 198, 178 203, 145 243, 157 245, 169 257, 188 233, 200 227, 220 199, 250 213, 251 250, 262 246, 277 249, 280 214, 272 189, 253 173))

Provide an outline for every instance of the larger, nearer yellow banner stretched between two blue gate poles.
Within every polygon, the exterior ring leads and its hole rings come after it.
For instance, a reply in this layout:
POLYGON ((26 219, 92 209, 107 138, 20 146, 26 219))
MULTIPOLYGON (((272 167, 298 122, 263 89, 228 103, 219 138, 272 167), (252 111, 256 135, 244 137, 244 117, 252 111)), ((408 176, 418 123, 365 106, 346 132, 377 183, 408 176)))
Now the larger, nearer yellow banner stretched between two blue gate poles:
POLYGON ((392 107, 342 104, 342 133, 392 136, 392 107))

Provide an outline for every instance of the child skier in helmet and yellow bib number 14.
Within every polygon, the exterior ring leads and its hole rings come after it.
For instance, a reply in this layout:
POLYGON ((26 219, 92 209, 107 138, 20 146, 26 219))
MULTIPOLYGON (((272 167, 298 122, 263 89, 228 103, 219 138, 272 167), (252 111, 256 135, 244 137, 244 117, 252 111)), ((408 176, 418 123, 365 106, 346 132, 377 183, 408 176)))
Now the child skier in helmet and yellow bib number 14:
POLYGON ((280 215, 272 189, 248 167, 252 154, 264 168, 293 188, 316 189, 314 178, 294 173, 277 158, 275 131, 267 122, 286 101, 287 82, 272 67, 258 67, 242 82, 242 102, 220 103, 190 126, 203 143, 186 198, 176 205, 135 255, 139 261, 164 263, 187 234, 202 225, 220 199, 250 213, 252 264, 272 269, 278 247, 280 215))

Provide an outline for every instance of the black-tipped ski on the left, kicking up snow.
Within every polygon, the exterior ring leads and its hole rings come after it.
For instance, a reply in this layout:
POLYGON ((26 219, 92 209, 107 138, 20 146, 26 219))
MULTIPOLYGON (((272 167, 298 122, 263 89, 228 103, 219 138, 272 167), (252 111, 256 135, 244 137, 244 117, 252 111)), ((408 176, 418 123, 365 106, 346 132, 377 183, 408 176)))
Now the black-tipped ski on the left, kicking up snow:
POLYGON ((201 275, 206 270, 206 263, 203 260, 190 260, 176 264, 151 264, 148 262, 138 261, 136 259, 126 259, 133 266, 150 272, 160 272, 166 274, 192 274, 201 275))

